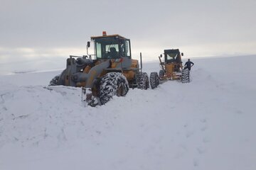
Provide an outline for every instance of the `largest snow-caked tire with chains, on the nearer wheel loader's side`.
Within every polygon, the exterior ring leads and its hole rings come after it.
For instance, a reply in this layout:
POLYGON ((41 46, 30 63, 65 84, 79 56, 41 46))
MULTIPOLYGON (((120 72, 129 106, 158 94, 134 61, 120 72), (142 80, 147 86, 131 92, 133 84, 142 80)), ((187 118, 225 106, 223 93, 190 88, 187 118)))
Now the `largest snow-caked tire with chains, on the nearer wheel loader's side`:
POLYGON ((125 96, 129 91, 129 84, 122 73, 110 72, 100 80, 100 103, 105 104, 113 96, 125 96))

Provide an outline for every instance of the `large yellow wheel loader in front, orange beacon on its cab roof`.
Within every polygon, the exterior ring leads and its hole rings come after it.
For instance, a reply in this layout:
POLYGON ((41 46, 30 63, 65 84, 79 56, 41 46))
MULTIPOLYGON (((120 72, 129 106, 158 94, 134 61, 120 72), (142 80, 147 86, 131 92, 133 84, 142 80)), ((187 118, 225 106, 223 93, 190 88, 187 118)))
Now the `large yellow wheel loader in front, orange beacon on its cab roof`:
POLYGON ((66 68, 49 85, 82 87, 89 106, 103 105, 112 96, 125 96, 129 87, 149 88, 149 77, 142 72, 142 53, 140 59, 141 68, 139 61, 132 59, 129 39, 103 31, 102 36, 91 37, 87 42, 87 55, 70 55, 66 68), (91 42, 94 55, 88 55, 91 42))

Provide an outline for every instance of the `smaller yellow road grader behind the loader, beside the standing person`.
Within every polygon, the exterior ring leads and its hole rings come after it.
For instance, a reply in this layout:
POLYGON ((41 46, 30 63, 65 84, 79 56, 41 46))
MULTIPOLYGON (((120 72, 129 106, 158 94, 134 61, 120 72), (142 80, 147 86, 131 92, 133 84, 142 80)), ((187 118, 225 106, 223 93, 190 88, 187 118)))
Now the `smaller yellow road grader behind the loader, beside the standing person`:
MULTIPOLYGON (((164 62, 162 62, 161 57, 159 56, 160 67, 159 71, 159 81, 164 82, 167 80, 181 80, 182 83, 189 82, 189 70, 183 69, 181 56, 183 52, 180 52, 178 49, 164 50, 164 62)), ((151 72, 150 74, 150 85, 154 89, 160 83, 159 81, 154 80, 154 77, 157 77, 157 72, 151 72)))

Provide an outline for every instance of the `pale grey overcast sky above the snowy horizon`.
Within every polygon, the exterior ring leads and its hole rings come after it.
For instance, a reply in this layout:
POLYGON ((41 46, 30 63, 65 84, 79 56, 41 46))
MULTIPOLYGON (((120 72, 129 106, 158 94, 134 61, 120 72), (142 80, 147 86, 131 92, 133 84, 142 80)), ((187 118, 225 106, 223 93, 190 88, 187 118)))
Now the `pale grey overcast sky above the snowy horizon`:
POLYGON ((0 0, 0 63, 85 55, 91 35, 130 38, 146 60, 256 54, 255 0, 0 0))

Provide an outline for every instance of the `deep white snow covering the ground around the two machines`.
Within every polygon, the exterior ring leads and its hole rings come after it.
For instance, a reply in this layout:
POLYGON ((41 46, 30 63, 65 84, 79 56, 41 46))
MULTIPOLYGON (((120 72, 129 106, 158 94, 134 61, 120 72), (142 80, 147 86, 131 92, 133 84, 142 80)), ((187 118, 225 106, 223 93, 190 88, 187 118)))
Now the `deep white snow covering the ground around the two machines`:
POLYGON ((255 170, 256 57, 193 62, 190 84, 96 108, 79 88, 44 88, 60 70, 1 76, 0 169, 255 170))

